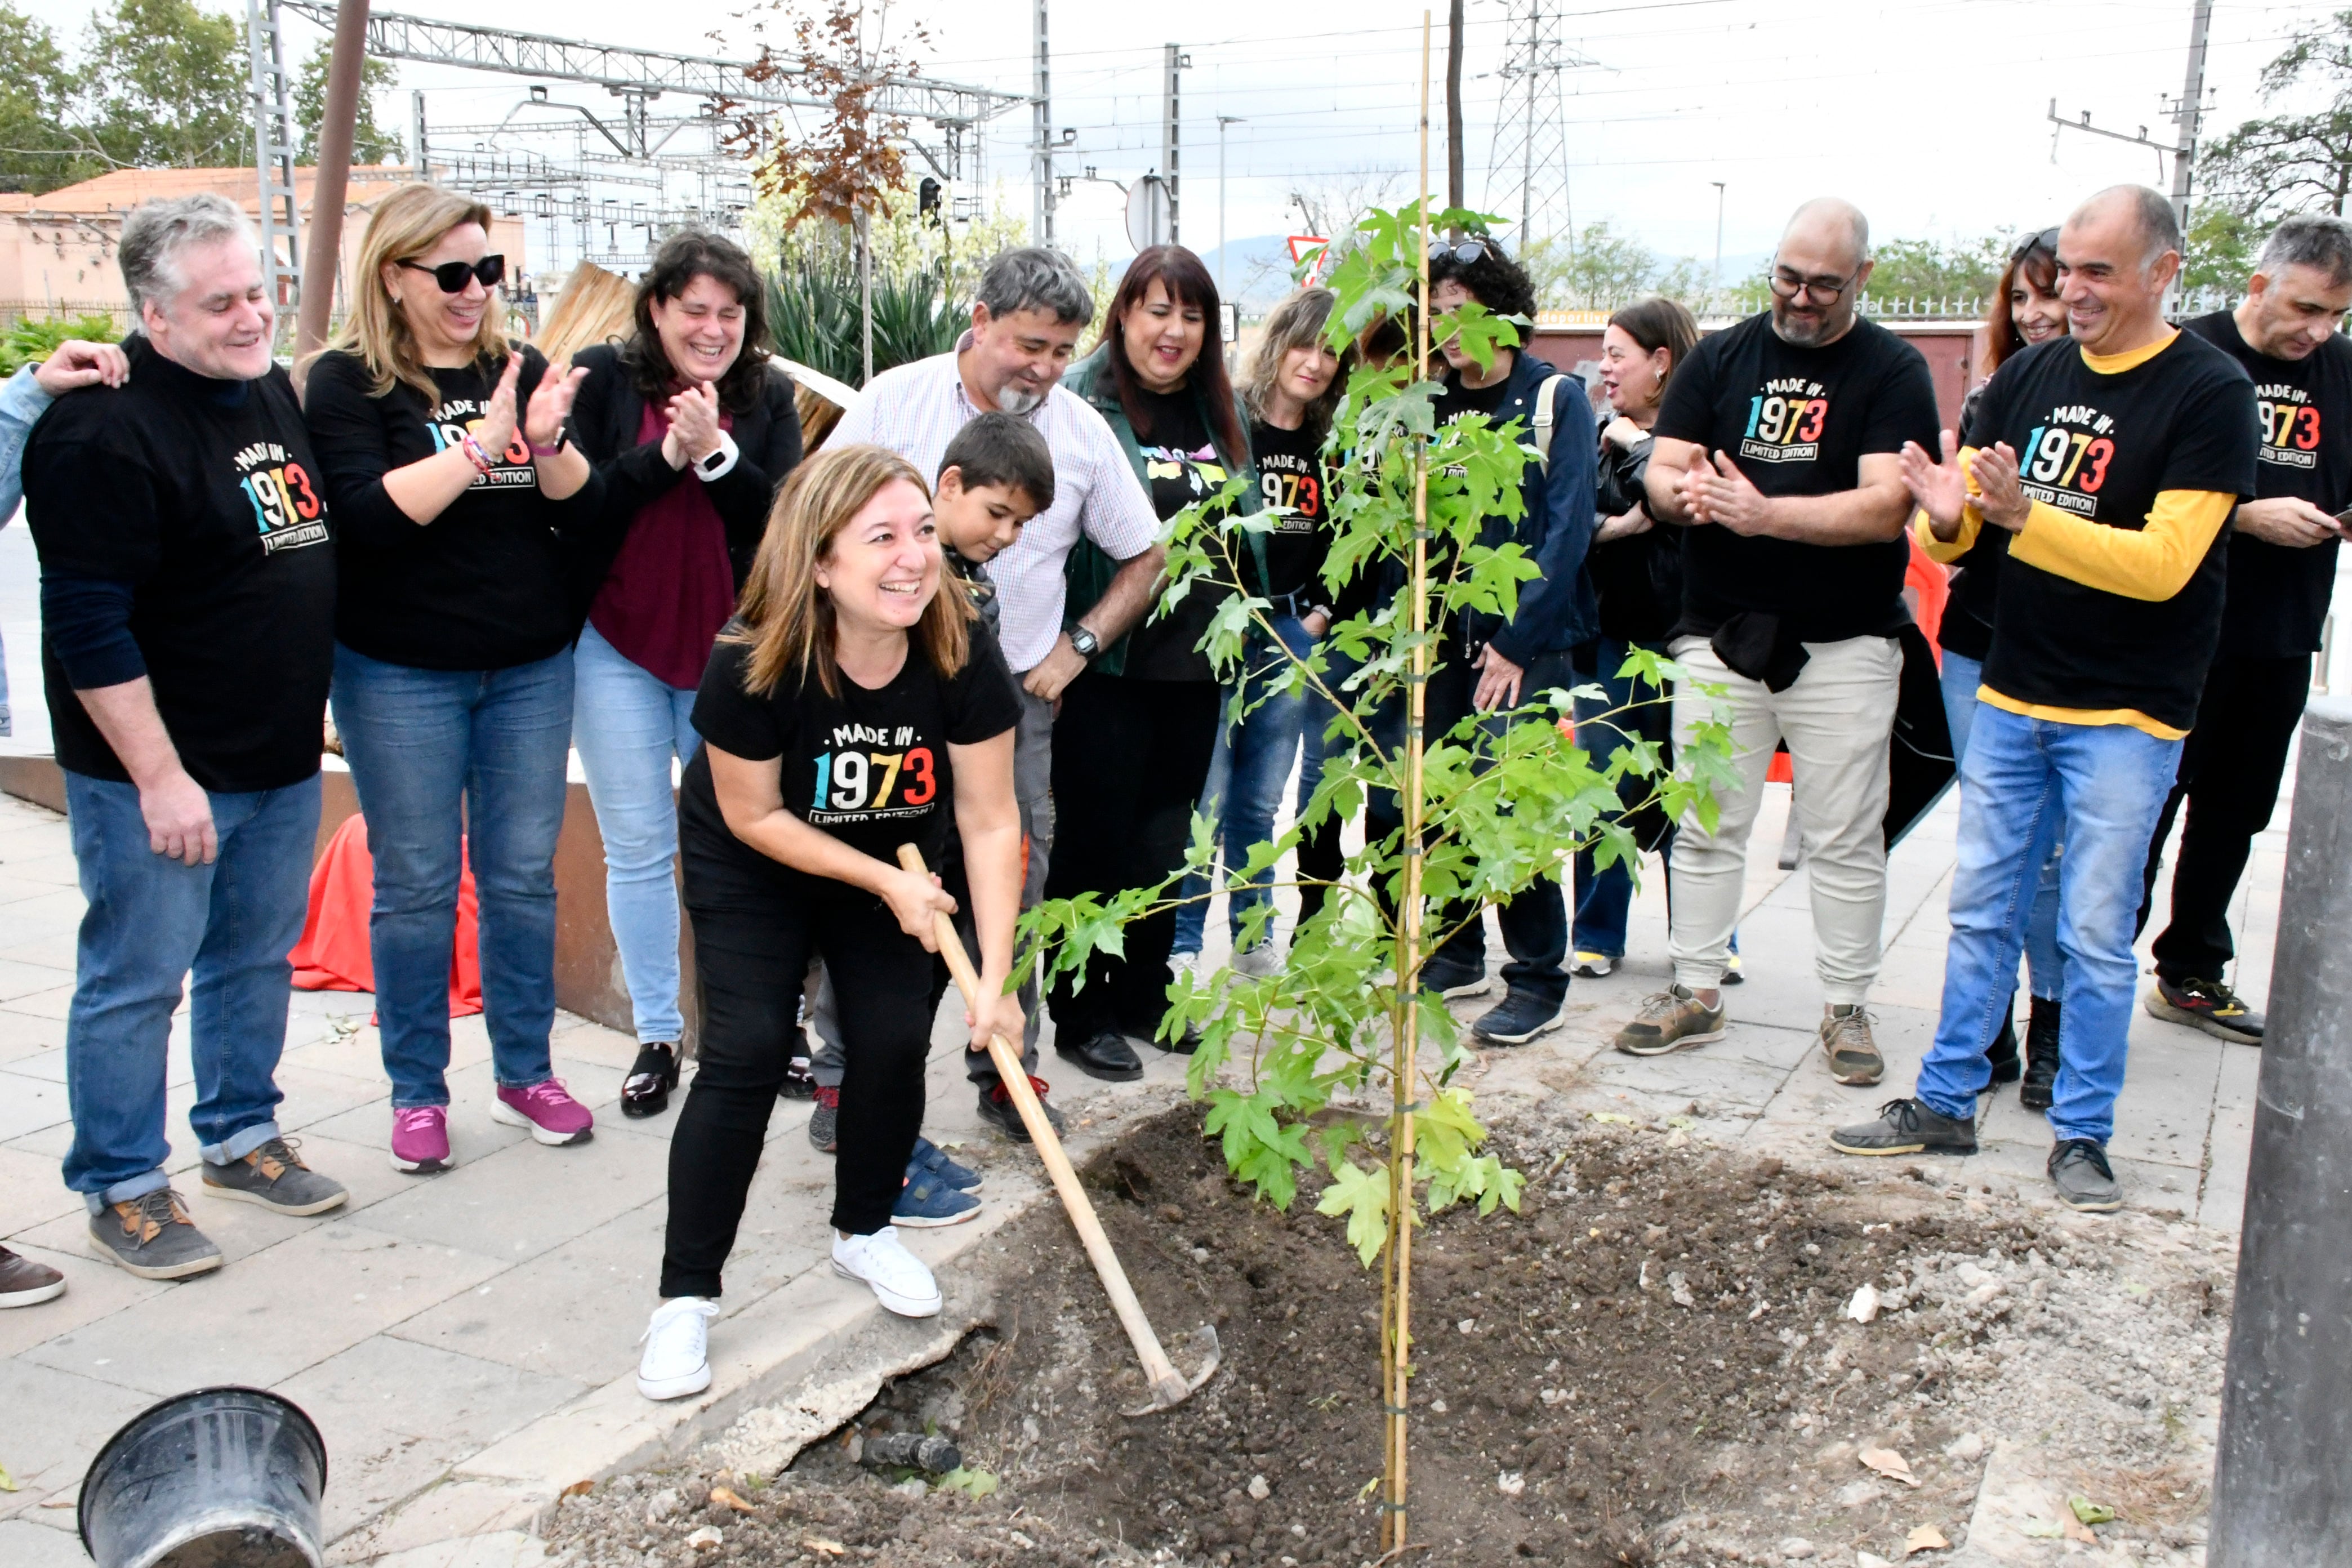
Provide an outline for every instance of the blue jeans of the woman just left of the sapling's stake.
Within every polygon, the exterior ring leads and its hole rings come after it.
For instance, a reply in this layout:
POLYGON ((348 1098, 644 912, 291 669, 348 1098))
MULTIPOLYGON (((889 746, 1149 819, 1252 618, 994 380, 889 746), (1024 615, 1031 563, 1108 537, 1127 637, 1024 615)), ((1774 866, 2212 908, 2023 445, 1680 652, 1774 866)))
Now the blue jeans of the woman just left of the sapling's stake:
MULTIPOLYGON (((1275 632, 1282 646, 1301 658, 1315 651, 1315 639, 1296 616, 1277 616, 1275 632)), ((1216 726, 1216 750, 1209 755, 1209 783, 1202 785, 1200 809, 1218 825, 1218 844, 1225 851, 1225 867, 1237 870, 1249 863, 1249 851, 1275 837, 1275 811, 1282 809, 1282 785, 1291 778, 1291 762, 1298 759, 1298 738, 1305 733, 1308 703, 1319 698, 1301 689, 1287 696, 1265 698, 1268 684, 1289 670, 1289 658, 1254 637, 1247 654, 1242 693, 1228 693, 1223 719, 1216 726), (1258 701, 1240 724, 1232 710, 1242 701, 1258 701)), ((1308 748, 1315 755, 1315 773, 1322 776, 1322 743, 1308 748)), ((1242 943, 1242 922, 1261 903, 1272 898, 1275 870, 1265 867, 1249 879, 1249 889, 1225 898, 1225 914, 1235 945, 1242 943)), ((1202 931, 1209 924, 1207 877, 1185 877, 1183 896, 1192 903, 1176 910, 1174 952, 1200 952, 1202 931)))

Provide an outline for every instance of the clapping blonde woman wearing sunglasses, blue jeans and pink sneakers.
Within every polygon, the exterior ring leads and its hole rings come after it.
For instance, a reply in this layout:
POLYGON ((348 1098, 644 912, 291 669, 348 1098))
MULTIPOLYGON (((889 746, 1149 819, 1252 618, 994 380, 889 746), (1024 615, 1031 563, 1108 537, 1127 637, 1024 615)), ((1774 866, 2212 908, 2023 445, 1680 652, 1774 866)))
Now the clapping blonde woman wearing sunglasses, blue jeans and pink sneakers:
POLYGON ((310 364, 336 520, 334 724, 360 792, 393 1168, 449 1157, 449 950, 480 893, 492 1119, 586 1143, 548 1060, 555 832, 572 745, 572 559, 597 489, 564 421, 586 371, 499 331, 506 259, 480 202, 405 186, 360 242, 350 322, 310 364), (463 839, 461 839, 463 832, 463 839))

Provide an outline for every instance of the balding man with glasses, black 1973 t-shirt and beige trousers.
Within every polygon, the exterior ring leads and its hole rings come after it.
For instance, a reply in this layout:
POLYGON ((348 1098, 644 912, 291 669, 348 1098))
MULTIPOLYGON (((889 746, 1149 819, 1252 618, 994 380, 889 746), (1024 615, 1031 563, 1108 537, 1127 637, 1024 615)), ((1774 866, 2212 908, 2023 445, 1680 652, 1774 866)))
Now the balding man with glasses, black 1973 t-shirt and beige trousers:
POLYGON ((1788 741, 1813 893, 1820 1048, 1839 1084, 1886 1070, 1863 1004, 1886 912, 1886 741, 1903 675, 1903 442, 1936 430, 1919 350, 1856 317, 1870 223, 1849 202, 1797 209, 1771 266, 1771 310, 1698 343, 1668 383, 1649 463, 1649 510, 1686 527, 1686 670, 1675 741, 1729 693, 1731 771, 1710 830, 1675 835, 1675 980, 1618 1030, 1616 1048, 1663 1056, 1724 1034, 1722 976, 1748 882, 1764 771, 1788 741))

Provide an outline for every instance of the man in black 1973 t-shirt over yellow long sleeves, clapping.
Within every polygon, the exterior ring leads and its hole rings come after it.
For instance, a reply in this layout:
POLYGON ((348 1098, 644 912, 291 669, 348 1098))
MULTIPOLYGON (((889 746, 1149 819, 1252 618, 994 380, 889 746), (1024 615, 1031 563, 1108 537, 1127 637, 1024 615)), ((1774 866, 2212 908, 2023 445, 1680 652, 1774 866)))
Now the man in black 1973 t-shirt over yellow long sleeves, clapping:
POLYGON ((2065 823, 2065 1023, 2051 1185, 2122 1208, 2107 1164, 2131 1030, 2140 875, 2220 642, 2230 545, 2256 491, 2256 388, 2164 320, 2180 221, 2145 186, 2100 190, 2058 230, 2072 339, 1992 374, 1940 461, 1905 447, 1936 555, 2009 531, 1985 682, 1962 759, 1952 940, 1936 1044, 1912 1098, 1830 1135, 1839 1154, 1973 1154, 1985 1046, 2002 1027, 2030 889, 2065 823))

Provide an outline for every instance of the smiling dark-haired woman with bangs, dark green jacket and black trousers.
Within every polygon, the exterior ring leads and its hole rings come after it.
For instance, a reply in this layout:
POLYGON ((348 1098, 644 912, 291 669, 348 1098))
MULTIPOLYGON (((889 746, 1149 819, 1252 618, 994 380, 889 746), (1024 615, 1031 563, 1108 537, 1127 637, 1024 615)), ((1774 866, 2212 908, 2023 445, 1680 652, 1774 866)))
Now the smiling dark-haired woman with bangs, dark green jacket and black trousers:
MULTIPOLYGON (((1247 480, 1235 512, 1261 508, 1249 458, 1249 416, 1225 376, 1216 282, 1181 244, 1136 256, 1103 315, 1094 353, 1063 386, 1108 423, 1162 522, 1207 503, 1228 480, 1247 480)), ((1235 536, 1244 581, 1263 592, 1263 538, 1235 536)), ((1115 564, 1080 543, 1070 550, 1070 604, 1094 604, 1115 564)), ((1225 595, 1195 588, 1124 639, 1096 651, 1063 691, 1054 748, 1054 860, 1047 898, 1150 886, 1183 865, 1192 806, 1209 776, 1221 686, 1200 642, 1225 595)), ((1131 1039, 1155 1039, 1167 1011, 1176 914, 1127 929, 1124 957, 1096 957, 1084 987, 1054 983, 1054 1048, 1080 1072, 1143 1077, 1131 1039)), ((1188 1051, 1190 1037, 1164 1041, 1188 1051)))

